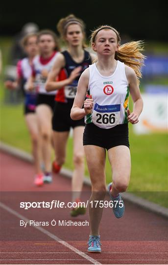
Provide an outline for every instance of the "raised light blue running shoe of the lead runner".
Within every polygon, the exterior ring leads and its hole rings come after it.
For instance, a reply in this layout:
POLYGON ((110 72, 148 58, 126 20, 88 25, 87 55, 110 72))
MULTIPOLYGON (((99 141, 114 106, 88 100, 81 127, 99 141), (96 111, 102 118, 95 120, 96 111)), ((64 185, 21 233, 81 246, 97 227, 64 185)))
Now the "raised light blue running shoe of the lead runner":
POLYGON ((110 183, 107 188, 108 188, 108 191, 109 191, 110 200, 114 202, 113 212, 114 212, 116 218, 121 218, 123 216, 123 214, 124 214, 124 209, 125 209, 124 208, 124 203, 123 203, 123 200, 121 198, 120 193, 119 193, 118 197, 113 198, 113 196, 110 193, 111 185, 112 185, 112 183, 110 183))

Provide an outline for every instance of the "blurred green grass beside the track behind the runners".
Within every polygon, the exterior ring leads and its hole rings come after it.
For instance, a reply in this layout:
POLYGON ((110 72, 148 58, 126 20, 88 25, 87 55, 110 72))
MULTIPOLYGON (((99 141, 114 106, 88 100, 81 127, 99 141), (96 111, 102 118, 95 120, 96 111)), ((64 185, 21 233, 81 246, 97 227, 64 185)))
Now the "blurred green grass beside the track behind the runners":
MULTIPOLYGON (((3 65, 7 64, 10 38, 2 38, 3 65)), ((150 44, 152 51, 165 53, 166 45, 157 47, 150 44)), ((148 45, 149 48, 149 45, 148 45)), ((3 71, 2 71, 3 75, 3 71)), ((165 79, 153 80, 154 83, 166 83, 165 79)), ((143 88, 143 87, 142 87, 143 88)), ((142 89, 143 90, 143 89, 142 89)), ((0 89, 1 99, 1 130, 0 138, 3 142, 26 152, 31 152, 31 143, 24 122, 22 105, 5 105, 4 88, 0 89)), ((135 135, 133 126, 129 125, 129 139, 131 151, 131 179, 129 191, 145 199, 168 207, 168 137, 165 133, 135 135)), ((73 169, 72 138, 68 140, 67 159, 65 167, 73 169)), ((85 174, 88 174, 85 166, 85 174)), ((107 160, 106 179, 111 182, 111 168, 107 160)))

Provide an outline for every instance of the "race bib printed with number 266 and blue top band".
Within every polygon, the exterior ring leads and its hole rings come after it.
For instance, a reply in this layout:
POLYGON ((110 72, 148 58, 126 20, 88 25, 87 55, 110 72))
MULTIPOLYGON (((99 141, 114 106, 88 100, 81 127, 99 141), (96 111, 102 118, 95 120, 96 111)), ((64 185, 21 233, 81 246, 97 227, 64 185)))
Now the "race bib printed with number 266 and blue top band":
POLYGON ((92 122, 103 129, 110 129, 120 122, 120 104, 101 106, 95 103, 92 122))

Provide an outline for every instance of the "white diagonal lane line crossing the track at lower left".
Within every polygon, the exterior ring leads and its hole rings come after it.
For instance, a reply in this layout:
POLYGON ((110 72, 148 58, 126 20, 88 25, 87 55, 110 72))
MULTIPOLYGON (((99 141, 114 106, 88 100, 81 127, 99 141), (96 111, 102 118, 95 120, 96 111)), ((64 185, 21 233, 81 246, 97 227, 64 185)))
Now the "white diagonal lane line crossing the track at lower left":
MULTIPOLYGON (((15 215, 16 217, 28 222, 28 224, 30 224, 29 220, 24 217, 23 215, 21 215, 19 212, 16 212, 14 210, 12 210, 10 207, 8 207, 7 205, 3 204, 0 202, 0 207, 4 210, 6 210, 7 212, 12 213, 13 215, 15 215)), ((86 255, 84 252, 78 250, 77 248, 73 247, 72 245, 70 245, 69 243, 67 243, 64 240, 61 240, 61 238, 58 238, 57 236, 53 235, 52 233, 48 232, 46 229, 42 228, 42 227, 38 227, 38 226, 34 226, 33 227, 37 230, 39 230, 40 232, 42 232, 43 234, 47 235, 49 238, 54 239, 55 241, 57 241, 58 243, 64 245, 65 247, 71 249, 73 252, 75 252, 76 254, 78 254, 79 256, 85 258, 86 260, 90 261, 93 264, 100 264, 99 262, 97 262, 96 260, 94 260, 93 258, 89 257, 88 255, 86 255)))

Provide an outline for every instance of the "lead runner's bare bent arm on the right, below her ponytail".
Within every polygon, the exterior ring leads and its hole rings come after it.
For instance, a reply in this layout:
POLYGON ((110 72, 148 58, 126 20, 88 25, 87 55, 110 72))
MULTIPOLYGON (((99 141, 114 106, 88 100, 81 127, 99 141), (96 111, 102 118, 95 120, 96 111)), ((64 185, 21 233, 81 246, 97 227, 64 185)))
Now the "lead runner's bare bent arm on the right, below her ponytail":
POLYGON ((135 71, 131 67, 125 66, 125 74, 129 83, 129 91, 134 102, 133 112, 130 113, 129 109, 127 111, 128 121, 131 122, 132 124, 136 124, 138 123, 139 121, 138 118, 143 110, 143 100, 141 97, 135 71))

